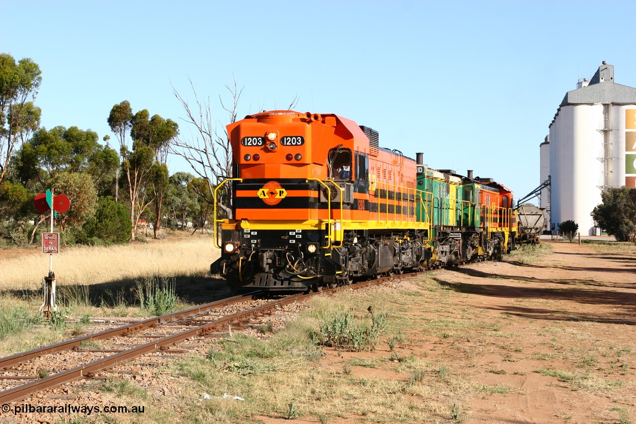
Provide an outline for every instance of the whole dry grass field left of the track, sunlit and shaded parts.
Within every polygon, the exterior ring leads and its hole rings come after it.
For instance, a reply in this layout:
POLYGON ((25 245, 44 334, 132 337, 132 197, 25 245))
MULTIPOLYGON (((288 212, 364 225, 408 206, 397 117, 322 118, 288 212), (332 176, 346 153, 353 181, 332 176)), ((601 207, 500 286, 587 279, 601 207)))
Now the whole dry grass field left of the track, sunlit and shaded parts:
MULTIPOLYGON (((150 312, 139 306, 134 291, 137 281, 169 278, 184 300, 190 300, 191 293, 213 295, 209 267, 219 252, 209 236, 177 234, 168 240, 110 247, 62 246, 60 250, 53 256, 57 306, 69 325, 55 331, 45 322, 17 327, 0 340, 0 356, 77 336, 74 327, 82 316, 146 316, 150 312)), ((37 316, 48 269, 48 255, 37 250, 0 251, 0 302, 4 309, 37 316)), ((179 300, 176 308, 188 305, 179 300)), ((0 325, 5 324, 11 324, 7 317, 0 320, 0 325)))

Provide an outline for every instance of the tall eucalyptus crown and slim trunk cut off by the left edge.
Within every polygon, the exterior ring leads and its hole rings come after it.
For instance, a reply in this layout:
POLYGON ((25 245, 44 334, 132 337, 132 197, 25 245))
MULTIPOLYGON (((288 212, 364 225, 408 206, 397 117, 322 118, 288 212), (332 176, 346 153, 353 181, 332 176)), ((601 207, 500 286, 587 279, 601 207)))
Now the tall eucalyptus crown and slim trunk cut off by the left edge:
POLYGON ((41 82, 39 66, 31 59, 16 63, 10 54, 0 54, 0 183, 16 146, 39 127, 41 110, 33 101, 41 82))

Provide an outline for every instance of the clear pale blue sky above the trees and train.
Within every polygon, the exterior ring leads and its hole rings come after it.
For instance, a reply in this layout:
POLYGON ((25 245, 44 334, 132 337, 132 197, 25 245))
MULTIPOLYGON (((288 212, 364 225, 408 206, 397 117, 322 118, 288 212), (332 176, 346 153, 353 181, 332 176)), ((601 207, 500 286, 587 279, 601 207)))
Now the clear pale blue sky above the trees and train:
MULTIPOLYGON (((336 113, 380 145, 438 169, 487 176, 521 197, 539 185, 539 143, 563 95, 603 60, 636 87, 636 4, 628 1, 1 2, 0 52, 42 70, 41 124, 111 136, 128 100, 191 130, 192 99, 244 87, 261 109, 336 113)), ((182 160, 170 171, 191 172, 182 160)))

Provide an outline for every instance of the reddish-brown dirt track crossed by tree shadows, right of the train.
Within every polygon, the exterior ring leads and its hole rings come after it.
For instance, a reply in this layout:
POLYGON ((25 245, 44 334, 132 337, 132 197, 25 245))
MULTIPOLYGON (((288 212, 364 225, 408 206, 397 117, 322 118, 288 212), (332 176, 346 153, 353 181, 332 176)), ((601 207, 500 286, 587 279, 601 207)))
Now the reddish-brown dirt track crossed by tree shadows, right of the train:
POLYGON ((448 302, 499 325, 494 337, 438 340, 445 346, 436 351, 464 379, 513 388, 473 397, 465 423, 636 418, 636 257, 552 246, 554 254, 535 264, 485 262, 436 276, 458 293, 448 302))

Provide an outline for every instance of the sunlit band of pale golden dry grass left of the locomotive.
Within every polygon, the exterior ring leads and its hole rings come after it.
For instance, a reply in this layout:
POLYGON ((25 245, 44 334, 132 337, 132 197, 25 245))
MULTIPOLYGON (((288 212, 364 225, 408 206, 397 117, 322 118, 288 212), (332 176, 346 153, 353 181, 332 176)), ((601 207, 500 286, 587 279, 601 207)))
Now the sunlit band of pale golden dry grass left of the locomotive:
MULTIPOLYGON (((203 276, 219 253, 211 237, 180 241, 149 239, 122 246, 73 246, 53 255, 57 285, 95 285, 135 281, 148 276, 203 276)), ((0 262, 0 290, 39 290, 48 275, 49 257, 26 253, 0 262)))

